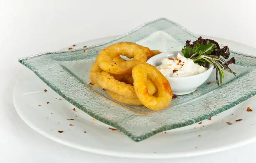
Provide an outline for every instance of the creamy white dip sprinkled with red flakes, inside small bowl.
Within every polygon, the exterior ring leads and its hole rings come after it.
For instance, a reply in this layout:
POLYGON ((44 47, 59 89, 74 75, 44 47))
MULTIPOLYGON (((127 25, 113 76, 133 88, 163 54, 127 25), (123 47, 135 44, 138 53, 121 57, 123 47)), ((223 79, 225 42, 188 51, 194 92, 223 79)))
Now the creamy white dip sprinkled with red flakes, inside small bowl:
POLYGON ((156 68, 165 77, 190 77, 207 70, 206 67, 195 64, 192 59, 178 54, 175 58, 164 58, 156 68))

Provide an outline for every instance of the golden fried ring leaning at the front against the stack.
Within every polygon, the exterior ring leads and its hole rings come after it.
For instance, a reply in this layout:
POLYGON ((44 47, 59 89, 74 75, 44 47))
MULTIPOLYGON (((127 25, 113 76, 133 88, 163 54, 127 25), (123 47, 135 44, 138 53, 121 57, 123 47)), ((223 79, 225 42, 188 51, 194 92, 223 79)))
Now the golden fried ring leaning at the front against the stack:
POLYGON ((166 108, 172 100, 172 89, 169 81, 151 64, 138 64, 132 70, 133 85, 138 99, 152 110, 166 108), (157 96, 148 94, 147 80, 151 79, 157 87, 157 96))

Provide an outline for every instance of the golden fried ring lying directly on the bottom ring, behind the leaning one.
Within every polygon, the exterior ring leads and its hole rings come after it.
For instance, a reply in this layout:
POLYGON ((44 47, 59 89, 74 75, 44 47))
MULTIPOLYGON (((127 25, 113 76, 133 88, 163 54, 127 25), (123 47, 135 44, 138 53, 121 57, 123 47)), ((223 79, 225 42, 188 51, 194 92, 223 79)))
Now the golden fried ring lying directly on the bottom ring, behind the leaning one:
MULTIPOLYGON (((131 84, 125 84, 116 80, 108 72, 101 72, 98 75, 98 84, 104 89, 108 89, 126 98, 137 98, 134 87, 131 84)), ((151 80, 145 81, 149 94, 154 94, 157 89, 155 84, 151 80)))

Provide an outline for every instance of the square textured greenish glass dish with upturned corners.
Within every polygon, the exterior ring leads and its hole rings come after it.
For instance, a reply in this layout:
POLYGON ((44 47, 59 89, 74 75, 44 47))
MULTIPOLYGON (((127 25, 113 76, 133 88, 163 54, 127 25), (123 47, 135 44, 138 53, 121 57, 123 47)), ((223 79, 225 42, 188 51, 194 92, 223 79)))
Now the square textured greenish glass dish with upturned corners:
POLYGON ((245 101, 256 94, 256 57, 231 51, 236 58, 231 65, 237 76, 225 73, 222 86, 216 83, 215 73, 189 95, 173 99, 169 107, 162 111, 151 111, 138 106, 118 103, 104 90, 92 86, 89 79, 90 67, 104 47, 120 41, 137 42, 151 49, 180 50, 186 40, 196 40, 198 36, 180 25, 161 18, 148 22, 122 37, 92 47, 49 52, 19 59, 48 86, 64 99, 90 116, 114 126, 134 141, 141 141, 161 131, 187 126, 245 101))

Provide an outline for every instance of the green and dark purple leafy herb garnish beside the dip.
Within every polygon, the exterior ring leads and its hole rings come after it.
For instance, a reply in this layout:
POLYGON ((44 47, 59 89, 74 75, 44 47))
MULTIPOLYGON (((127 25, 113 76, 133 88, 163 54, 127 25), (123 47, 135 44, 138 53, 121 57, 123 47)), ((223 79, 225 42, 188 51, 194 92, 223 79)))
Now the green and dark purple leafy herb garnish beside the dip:
POLYGON ((222 79, 224 79, 224 70, 236 76, 236 73, 228 67, 228 64, 236 63, 235 58, 233 57, 229 61, 220 58, 220 56, 222 56, 223 58, 228 59, 230 55, 228 46, 220 49, 218 42, 199 37, 198 40, 194 41, 192 44, 190 44, 190 40, 187 40, 186 45, 181 51, 184 57, 193 59, 196 64, 202 66, 207 66, 209 64, 214 65, 216 68, 216 80, 218 85, 218 73, 220 76, 220 84, 222 84, 222 79))

